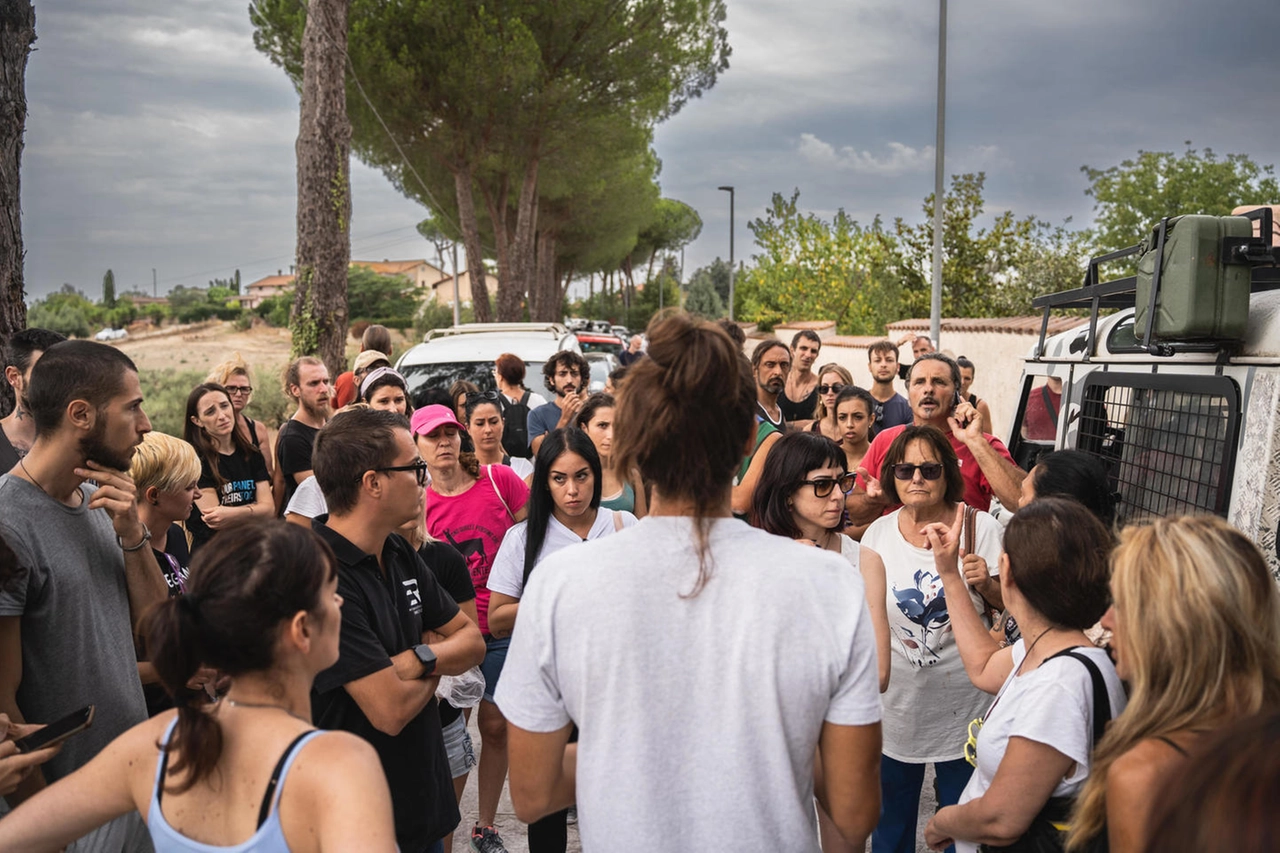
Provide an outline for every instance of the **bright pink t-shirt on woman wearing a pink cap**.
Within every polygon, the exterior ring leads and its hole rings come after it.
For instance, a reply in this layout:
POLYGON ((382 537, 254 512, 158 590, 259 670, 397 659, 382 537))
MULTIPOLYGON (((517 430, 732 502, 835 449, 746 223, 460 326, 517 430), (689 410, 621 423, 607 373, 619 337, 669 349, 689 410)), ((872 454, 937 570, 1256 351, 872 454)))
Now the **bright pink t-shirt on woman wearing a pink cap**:
POLYGON ((516 523, 512 514, 520 512, 527 501, 529 487, 506 465, 481 465, 480 479, 462 494, 445 497, 426 488, 426 532, 466 557, 483 634, 489 633, 489 569, 502 538, 516 523))

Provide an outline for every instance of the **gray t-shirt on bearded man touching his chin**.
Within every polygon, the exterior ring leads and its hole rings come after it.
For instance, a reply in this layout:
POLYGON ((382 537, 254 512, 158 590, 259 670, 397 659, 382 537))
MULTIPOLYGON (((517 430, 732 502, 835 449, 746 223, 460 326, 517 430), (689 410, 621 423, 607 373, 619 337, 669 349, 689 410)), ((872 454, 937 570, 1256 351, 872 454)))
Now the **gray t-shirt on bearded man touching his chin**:
POLYGON ((18 707, 52 722, 96 704, 93 725, 44 765, 54 781, 147 719, 138 681, 124 555, 106 510, 87 510, 95 487, 69 507, 31 483, 0 476, 0 535, 27 571, 0 592, 0 616, 22 617, 18 707))

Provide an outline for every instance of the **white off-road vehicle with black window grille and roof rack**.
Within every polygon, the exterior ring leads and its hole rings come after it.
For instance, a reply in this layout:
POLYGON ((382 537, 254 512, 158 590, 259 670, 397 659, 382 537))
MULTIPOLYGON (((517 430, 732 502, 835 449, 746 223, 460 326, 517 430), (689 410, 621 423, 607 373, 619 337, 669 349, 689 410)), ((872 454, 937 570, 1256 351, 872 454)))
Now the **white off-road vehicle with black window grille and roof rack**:
POLYGON ((1024 365, 1007 444, 1027 470, 1050 450, 1100 457, 1121 498, 1120 524, 1220 515, 1262 548, 1280 580, 1280 250, 1271 246, 1270 211, 1251 218, 1261 220, 1254 233, 1266 237, 1252 238, 1247 250, 1224 245, 1216 259, 1202 260, 1252 268, 1243 339, 1156 342, 1144 321, 1135 332, 1135 280, 1097 279, 1100 261, 1114 256, 1091 263, 1084 287, 1036 300, 1046 323, 1062 309, 1087 309, 1089 319, 1061 334, 1041 333, 1024 365), (1117 310, 1103 315, 1107 309, 1117 310), (1039 397, 1053 409, 1057 383, 1056 428, 1037 434, 1029 421, 1044 406, 1032 403, 1028 418, 1028 403, 1039 397))

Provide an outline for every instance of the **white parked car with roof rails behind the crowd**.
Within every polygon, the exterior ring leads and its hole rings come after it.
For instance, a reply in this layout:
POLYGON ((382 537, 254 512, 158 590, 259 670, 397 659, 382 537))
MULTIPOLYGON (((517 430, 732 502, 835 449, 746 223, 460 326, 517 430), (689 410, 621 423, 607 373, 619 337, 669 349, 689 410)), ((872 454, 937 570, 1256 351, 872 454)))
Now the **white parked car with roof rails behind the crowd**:
POLYGON ((422 343, 399 357, 396 369, 403 374, 416 407, 429 388, 448 389, 458 379, 481 391, 494 388, 494 362, 511 352, 525 360, 525 386, 541 393, 543 365, 561 350, 582 351, 577 338, 559 323, 466 323, 431 329, 422 343))

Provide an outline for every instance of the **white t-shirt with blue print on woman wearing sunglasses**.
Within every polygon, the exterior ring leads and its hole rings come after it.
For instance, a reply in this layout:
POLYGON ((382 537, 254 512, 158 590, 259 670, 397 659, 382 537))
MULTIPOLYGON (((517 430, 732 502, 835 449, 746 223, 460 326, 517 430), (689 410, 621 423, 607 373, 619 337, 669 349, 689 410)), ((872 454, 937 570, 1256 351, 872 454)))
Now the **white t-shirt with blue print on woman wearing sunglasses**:
MULTIPOLYGON (((991 697, 969 681, 956 649, 947 601, 933 565, 933 552, 906 542, 896 510, 877 519, 863 544, 884 561, 890 681, 884 701, 884 754, 925 763, 964 757, 965 726, 986 711, 991 697)), ((977 515, 974 549, 992 575, 1000 570, 1004 528, 986 512, 977 515)), ((961 539, 963 542, 963 539, 961 539)), ((970 593, 973 607, 982 598, 970 593)))

